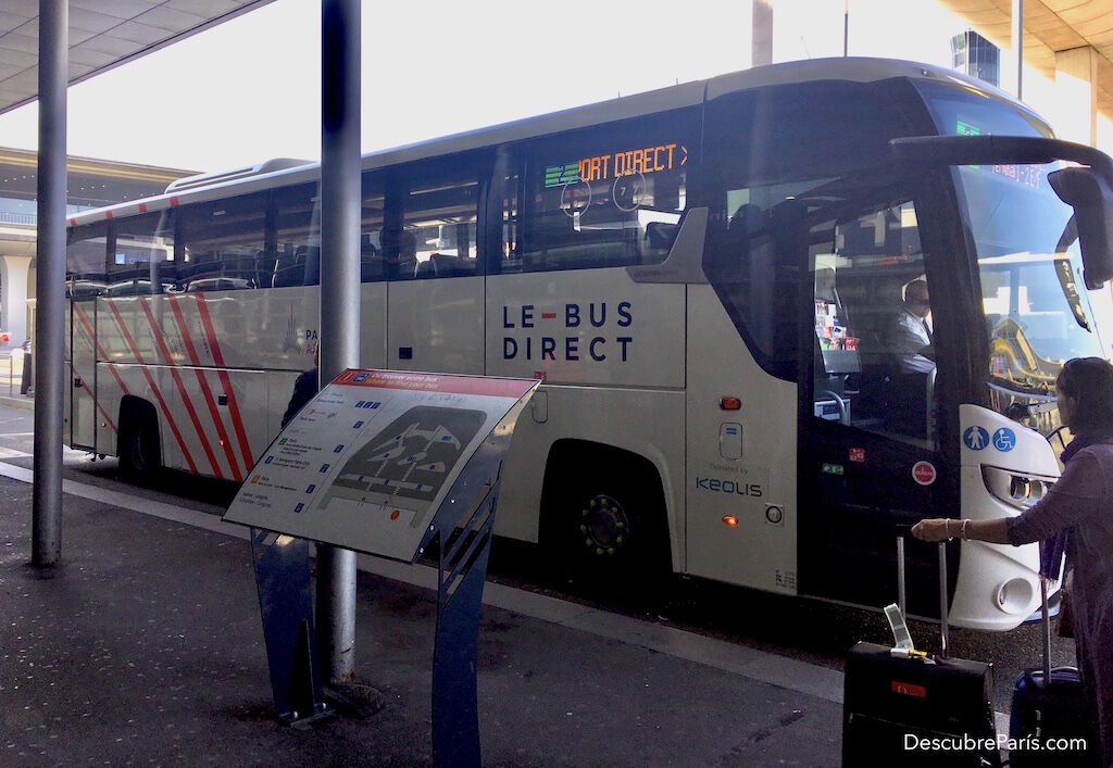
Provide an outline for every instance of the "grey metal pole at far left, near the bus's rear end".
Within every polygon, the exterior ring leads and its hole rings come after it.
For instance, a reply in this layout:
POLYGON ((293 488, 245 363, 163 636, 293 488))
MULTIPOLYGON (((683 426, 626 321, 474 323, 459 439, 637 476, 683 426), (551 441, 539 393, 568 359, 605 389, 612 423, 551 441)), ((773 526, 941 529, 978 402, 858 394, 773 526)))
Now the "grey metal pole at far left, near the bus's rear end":
POLYGON ((31 564, 62 557, 62 394, 66 372, 66 77, 69 2, 39 2, 38 254, 35 343, 35 484, 31 564))

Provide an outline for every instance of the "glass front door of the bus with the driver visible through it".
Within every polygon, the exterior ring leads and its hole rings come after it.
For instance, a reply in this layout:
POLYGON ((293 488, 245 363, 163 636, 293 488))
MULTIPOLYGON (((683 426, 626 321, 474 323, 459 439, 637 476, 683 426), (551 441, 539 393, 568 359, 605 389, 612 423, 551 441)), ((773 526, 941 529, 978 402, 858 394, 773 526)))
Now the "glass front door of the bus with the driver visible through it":
MULTIPOLYGON (((801 579, 808 593, 880 605, 894 594, 877 575, 894 525, 946 509, 956 480, 939 453, 940 419, 955 407, 937 367, 937 331, 955 313, 933 292, 909 195, 858 178, 802 200, 801 579)), ((913 610, 933 614, 929 597, 910 592, 913 610)))

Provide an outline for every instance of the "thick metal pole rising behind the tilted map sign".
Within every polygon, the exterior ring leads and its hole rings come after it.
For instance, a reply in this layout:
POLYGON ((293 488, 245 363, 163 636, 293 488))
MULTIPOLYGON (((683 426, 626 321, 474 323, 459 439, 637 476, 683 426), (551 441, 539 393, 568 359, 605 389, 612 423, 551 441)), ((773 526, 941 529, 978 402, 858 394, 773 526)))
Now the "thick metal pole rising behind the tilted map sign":
MULTIPOLYGON (((322 382, 359 364, 359 0, 322 0, 322 382)), ((355 672, 355 552, 317 547, 317 648, 329 679, 355 672)))

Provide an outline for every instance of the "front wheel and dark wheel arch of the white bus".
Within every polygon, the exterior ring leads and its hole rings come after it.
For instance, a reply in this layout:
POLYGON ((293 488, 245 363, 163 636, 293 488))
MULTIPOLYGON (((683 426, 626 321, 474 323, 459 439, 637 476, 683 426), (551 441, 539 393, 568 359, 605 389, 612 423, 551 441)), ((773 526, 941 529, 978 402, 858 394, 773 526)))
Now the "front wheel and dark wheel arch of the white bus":
POLYGON ((559 441, 545 465, 539 539, 556 573, 592 591, 663 578, 671 563, 657 467, 628 451, 559 441))

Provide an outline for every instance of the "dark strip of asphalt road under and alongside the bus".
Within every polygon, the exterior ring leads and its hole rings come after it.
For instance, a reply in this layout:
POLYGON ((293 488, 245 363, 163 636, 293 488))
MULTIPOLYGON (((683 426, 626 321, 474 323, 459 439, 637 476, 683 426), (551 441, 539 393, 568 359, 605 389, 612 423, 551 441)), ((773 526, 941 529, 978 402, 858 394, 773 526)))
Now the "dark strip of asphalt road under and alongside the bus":
MULTIPOLYGON (((32 452, 32 412, 0 404, 0 462, 30 469, 32 452)), ((223 510, 236 491, 228 482, 174 473, 159 477, 157 485, 127 485, 117 479, 115 459, 96 459, 69 449, 63 454, 63 472, 67 480, 211 513, 223 510)), ((632 597, 629 592, 604 594, 543 571, 540 561, 531 545, 496 541, 489 579, 833 669, 843 669, 847 650, 858 640, 887 642, 892 637, 885 617, 877 610, 785 598, 686 577, 669 578, 632 597)), ((913 620, 909 629, 917 647, 938 651, 937 624, 913 620)), ((1038 621, 1011 632, 953 628, 949 650, 954 657, 993 662, 996 708, 1007 712, 1017 676, 1025 668, 1041 663, 1040 634, 1038 621)), ((1053 634, 1052 664, 1073 663, 1074 641, 1053 634)))

